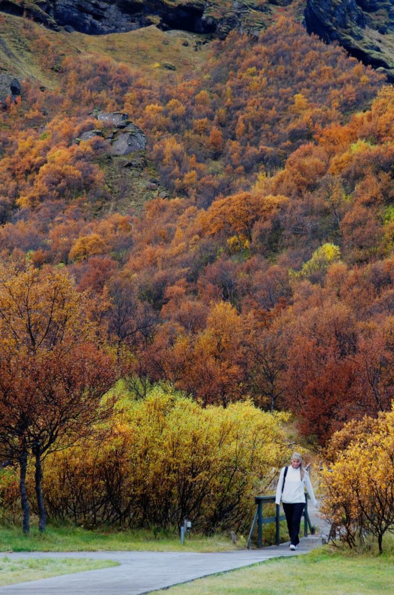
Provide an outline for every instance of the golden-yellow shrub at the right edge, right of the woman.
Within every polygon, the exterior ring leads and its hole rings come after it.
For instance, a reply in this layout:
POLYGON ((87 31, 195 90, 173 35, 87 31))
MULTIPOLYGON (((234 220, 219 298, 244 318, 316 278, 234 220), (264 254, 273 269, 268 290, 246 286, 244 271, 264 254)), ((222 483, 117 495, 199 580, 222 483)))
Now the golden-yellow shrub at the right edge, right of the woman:
POLYGON ((372 534, 382 553, 384 534, 394 531, 393 422, 390 411, 374 421, 364 418, 358 427, 352 424, 349 430, 357 432, 323 471, 326 497, 322 512, 350 547, 372 534))

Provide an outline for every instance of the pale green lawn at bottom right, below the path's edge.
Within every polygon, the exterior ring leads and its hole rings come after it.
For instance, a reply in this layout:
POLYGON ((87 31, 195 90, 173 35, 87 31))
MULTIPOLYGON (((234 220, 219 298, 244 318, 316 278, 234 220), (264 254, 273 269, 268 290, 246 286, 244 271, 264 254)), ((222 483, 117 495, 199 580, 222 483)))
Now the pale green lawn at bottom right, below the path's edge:
POLYGON ((351 555, 334 548, 297 558, 268 560, 201 578, 155 595, 389 595, 394 555, 351 555))

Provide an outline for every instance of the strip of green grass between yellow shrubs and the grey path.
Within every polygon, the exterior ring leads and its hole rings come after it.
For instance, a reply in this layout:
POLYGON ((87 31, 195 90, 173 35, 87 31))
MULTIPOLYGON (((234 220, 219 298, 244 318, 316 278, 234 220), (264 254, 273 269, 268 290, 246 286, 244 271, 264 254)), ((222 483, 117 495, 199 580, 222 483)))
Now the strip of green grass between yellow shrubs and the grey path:
POLYGON ((230 537, 188 535, 181 546, 175 534, 153 531, 94 530, 48 525, 40 535, 36 527, 24 536, 20 527, 0 529, 0 552, 99 552, 146 550, 156 552, 226 552, 245 547, 245 538, 233 544, 230 537))

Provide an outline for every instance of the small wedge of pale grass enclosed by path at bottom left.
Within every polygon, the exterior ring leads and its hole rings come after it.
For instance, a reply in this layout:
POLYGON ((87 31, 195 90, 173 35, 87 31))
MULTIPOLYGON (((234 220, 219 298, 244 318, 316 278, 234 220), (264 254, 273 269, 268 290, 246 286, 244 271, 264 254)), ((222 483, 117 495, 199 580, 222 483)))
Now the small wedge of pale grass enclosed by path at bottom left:
POLYGON ((109 566, 119 566, 119 564, 111 562, 111 560, 78 558, 10 560, 6 556, 0 558, 0 586, 25 581, 37 581, 39 578, 58 577, 61 574, 70 574, 71 572, 109 568, 109 566))

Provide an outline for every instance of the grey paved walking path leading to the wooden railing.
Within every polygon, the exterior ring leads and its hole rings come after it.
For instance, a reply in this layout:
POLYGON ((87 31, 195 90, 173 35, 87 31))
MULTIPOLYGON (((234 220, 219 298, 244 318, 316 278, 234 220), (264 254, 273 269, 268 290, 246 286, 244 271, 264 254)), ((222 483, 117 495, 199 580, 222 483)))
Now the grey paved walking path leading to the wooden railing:
MULTIPOLYGON (((310 509, 315 522, 316 511, 310 509)), ((184 583, 216 572, 225 572, 278 556, 297 556, 321 544, 321 538, 301 539, 295 552, 288 543, 262 550, 237 552, 24 552, 8 553, 8 558, 94 558, 115 560, 120 566, 29 583, 0 587, 0 595, 141 595, 156 589, 184 583)), ((1 556, 1 554, 0 554, 1 556)))

